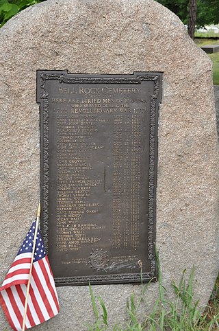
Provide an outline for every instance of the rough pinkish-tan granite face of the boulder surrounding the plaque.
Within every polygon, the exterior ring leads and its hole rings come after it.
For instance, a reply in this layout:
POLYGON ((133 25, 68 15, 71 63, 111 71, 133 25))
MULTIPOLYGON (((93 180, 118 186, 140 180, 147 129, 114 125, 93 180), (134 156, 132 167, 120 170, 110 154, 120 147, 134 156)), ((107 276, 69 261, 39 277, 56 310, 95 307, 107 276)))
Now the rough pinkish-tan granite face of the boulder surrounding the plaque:
MULTIPOLYGON (((218 145, 211 62, 175 14, 152 0, 48 0, 0 30, 0 282, 36 214, 40 179, 36 70, 164 72, 159 111, 157 248, 164 286, 195 266, 207 304, 219 268, 218 145)), ((140 286, 93 286, 110 328, 127 320, 140 286)), ((60 314, 34 330, 85 331, 94 321, 88 286, 61 287, 60 314)), ((146 290, 149 311, 158 284, 146 290)), ((0 330, 10 330, 0 310, 0 330)))

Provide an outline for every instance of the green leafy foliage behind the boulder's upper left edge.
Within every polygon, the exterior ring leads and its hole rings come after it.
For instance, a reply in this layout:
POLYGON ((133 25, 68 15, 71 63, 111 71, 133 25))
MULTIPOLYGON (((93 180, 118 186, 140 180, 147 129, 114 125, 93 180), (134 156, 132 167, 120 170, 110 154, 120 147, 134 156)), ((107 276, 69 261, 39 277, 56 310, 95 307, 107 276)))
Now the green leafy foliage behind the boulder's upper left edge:
MULTIPOLYGON (((43 0, 42 0, 43 1, 43 0)), ((21 10, 41 2, 40 0, 0 0, 0 27, 21 10)))

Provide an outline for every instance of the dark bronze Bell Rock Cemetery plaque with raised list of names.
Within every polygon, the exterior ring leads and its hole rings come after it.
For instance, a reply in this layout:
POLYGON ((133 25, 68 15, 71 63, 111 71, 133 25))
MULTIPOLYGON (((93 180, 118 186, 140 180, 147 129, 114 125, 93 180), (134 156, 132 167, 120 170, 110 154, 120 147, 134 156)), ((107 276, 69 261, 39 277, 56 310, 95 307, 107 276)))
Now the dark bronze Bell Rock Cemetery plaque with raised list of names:
POLYGON ((57 285, 156 277, 162 73, 38 71, 42 233, 57 285))

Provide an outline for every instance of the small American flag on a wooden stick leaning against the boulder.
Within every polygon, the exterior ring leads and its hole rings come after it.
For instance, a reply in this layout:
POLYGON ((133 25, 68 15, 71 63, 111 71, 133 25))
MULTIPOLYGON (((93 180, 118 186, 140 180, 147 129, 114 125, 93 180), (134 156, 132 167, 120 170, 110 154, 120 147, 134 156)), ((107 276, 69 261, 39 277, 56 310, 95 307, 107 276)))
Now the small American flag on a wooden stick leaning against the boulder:
MULTIPOLYGON (((13 330, 22 331, 27 282, 31 265, 36 220, 31 225, 0 288, 0 303, 13 330)), ((31 272, 25 330, 59 312, 53 273, 38 229, 31 272)))

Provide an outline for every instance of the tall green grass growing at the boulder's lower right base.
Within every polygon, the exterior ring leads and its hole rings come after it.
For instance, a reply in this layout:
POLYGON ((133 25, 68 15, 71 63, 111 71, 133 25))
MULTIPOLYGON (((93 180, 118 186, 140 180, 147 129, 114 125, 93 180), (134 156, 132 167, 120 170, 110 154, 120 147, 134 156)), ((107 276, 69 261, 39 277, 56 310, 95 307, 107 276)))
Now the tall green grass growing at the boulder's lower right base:
MULTIPOLYGON (((159 268, 159 260, 158 260, 159 268)), ((142 274, 142 273, 141 273, 142 274)), ((146 290, 149 284, 141 284, 142 291, 139 297, 133 294, 127 301, 127 321, 125 328, 118 323, 112 328, 107 321, 107 308, 100 297, 97 300, 101 304, 102 314, 96 305, 96 298, 90 288, 92 308, 94 311, 95 323, 88 327, 88 331, 210 331, 219 330, 219 275, 216 280, 214 291, 209 300, 205 312, 201 313, 198 308, 198 301, 194 300, 194 268, 191 271, 188 282, 185 280, 186 271, 183 271, 179 284, 172 283, 175 292, 175 299, 170 300, 166 288, 162 285, 162 275, 159 269, 159 297, 151 314, 140 315, 138 308, 144 305, 146 290)))

